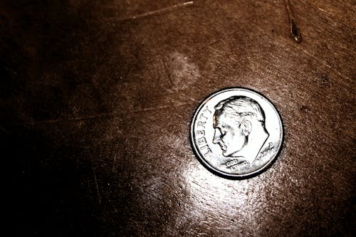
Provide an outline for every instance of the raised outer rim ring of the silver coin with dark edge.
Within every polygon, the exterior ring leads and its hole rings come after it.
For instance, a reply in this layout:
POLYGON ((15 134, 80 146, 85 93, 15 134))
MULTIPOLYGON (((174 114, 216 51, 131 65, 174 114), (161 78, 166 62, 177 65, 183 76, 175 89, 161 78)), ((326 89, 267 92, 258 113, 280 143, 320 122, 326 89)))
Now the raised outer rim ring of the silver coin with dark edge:
POLYGON ((250 88, 238 88, 238 87, 223 88, 221 90, 215 91, 214 93, 211 93, 206 98, 204 98, 204 100, 201 100, 201 102, 199 102, 199 106, 194 110, 194 116, 193 116, 192 122, 190 124, 190 142, 192 144, 194 154, 199 158, 198 160, 200 162, 202 162, 202 164, 204 164, 204 166, 206 166, 214 174, 218 174, 221 177, 230 178, 230 179, 254 177, 254 176, 260 174, 261 172, 263 172, 268 167, 270 167, 273 164, 273 162, 276 161, 277 157, 281 153, 283 142, 284 142, 284 126, 283 126, 282 116, 281 116, 281 113, 277 110, 276 106, 273 104, 273 102, 271 102, 271 100, 269 100, 268 98, 266 98, 266 96, 262 95, 261 93, 257 92, 256 90, 252 90, 250 88), (272 159, 270 159, 261 168, 256 169, 255 171, 253 171, 251 173, 248 173, 248 174, 229 174, 229 173, 226 173, 226 172, 222 172, 219 169, 216 169, 215 167, 212 167, 211 164, 206 162, 206 160, 203 157, 201 157, 201 154, 199 154, 199 150, 197 149, 197 146, 196 146, 196 144, 194 142, 194 137, 195 137, 195 135, 194 135, 194 122, 197 120, 197 115, 198 115, 199 111, 201 110, 201 107, 203 107, 206 104, 206 102, 208 102, 210 100, 210 98, 213 98, 215 95, 218 95, 218 94, 221 94, 221 93, 224 93, 224 92, 227 92, 227 91, 231 91, 231 90, 244 90, 244 91, 246 91, 248 93, 255 93, 257 95, 260 95, 263 99, 265 99, 272 106, 273 110, 275 110, 275 112, 277 113, 277 115, 279 117, 279 124, 281 125, 282 137, 281 137, 281 142, 280 142, 280 144, 278 146, 276 154, 273 156, 272 159))

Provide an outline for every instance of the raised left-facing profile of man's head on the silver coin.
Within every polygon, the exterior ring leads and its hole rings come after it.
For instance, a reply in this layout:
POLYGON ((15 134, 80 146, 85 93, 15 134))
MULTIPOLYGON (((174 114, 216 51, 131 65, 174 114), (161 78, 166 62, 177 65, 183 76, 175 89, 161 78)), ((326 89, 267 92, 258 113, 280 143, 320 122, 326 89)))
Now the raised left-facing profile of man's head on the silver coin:
POLYGON ((255 162, 269 134, 265 114, 258 102, 245 96, 233 96, 215 106, 213 143, 219 144, 224 157, 255 162))

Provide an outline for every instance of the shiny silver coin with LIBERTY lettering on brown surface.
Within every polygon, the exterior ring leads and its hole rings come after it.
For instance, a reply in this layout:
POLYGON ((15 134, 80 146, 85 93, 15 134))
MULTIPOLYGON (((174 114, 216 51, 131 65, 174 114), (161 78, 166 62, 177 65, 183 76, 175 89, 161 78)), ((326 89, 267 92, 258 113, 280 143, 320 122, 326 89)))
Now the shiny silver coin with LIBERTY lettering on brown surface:
POLYGON ((211 171, 247 177, 268 167, 283 143, 283 124, 276 107, 245 88, 209 95, 191 124, 192 147, 211 171))

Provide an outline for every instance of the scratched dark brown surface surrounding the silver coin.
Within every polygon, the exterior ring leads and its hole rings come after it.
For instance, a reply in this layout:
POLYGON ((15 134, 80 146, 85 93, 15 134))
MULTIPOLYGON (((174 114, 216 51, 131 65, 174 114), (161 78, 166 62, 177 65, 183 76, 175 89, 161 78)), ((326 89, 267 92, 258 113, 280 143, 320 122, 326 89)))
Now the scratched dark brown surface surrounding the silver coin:
POLYGON ((301 43, 283 0, 1 1, 11 231, 353 236, 355 2, 291 4, 301 43), (199 102, 228 87, 283 118, 281 154, 249 179, 212 174, 189 142, 199 102))

